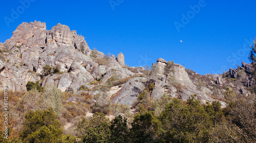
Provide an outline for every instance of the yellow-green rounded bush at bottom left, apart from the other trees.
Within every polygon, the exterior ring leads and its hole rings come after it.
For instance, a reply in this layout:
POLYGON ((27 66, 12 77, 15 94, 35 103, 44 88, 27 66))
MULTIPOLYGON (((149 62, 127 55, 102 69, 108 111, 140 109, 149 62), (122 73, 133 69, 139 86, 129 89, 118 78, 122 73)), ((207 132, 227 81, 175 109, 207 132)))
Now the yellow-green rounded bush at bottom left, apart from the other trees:
POLYGON ((25 115, 23 126, 19 136, 24 142, 58 142, 63 132, 52 108, 44 111, 30 110, 25 115))

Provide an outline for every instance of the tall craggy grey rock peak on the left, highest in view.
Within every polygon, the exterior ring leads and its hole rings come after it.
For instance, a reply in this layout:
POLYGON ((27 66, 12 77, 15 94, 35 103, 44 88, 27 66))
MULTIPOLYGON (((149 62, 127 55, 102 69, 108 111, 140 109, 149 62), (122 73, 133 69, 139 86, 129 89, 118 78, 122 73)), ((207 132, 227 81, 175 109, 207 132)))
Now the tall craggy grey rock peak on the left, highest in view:
MULTIPOLYGON (((1 44, 2 46, 3 44, 1 44)), ((48 31, 46 30, 45 22, 23 22, 13 32, 13 36, 5 41, 4 47, 10 51, 7 53, 6 59, 11 60, 5 71, 3 71, 2 76, 9 77, 3 80, 4 82, 9 82, 6 84, 9 84, 10 89, 16 91, 26 90, 27 82, 38 81, 40 79, 39 75, 46 65, 50 65, 53 68, 60 67, 60 71, 67 72, 73 63, 71 67, 72 73, 70 74, 74 78, 68 78, 70 81, 63 83, 65 86, 58 86, 62 88, 62 91, 69 86, 74 88, 75 85, 80 84, 75 82, 88 83, 89 80, 94 80, 90 72, 87 71, 97 66, 90 58, 91 50, 83 36, 77 35, 76 31, 70 31, 67 25, 58 23, 48 31), (11 65, 17 67, 21 64, 25 65, 27 69, 17 68, 16 70, 18 74, 23 76, 16 77, 14 72, 9 72, 8 75, 5 75, 11 69, 11 65), (34 71, 37 74, 32 76, 28 71, 34 71), (15 82, 11 83, 11 81, 15 82), (68 85, 69 82, 73 84, 68 85)), ((3 65, 6 64, 0 62, 0 67, 3 65)), ((47 77, 43 83, 57 83, 57 80, 54 80, 55 76, 47 77)), ((0 90, 2 88, 0 87, 0 90)))

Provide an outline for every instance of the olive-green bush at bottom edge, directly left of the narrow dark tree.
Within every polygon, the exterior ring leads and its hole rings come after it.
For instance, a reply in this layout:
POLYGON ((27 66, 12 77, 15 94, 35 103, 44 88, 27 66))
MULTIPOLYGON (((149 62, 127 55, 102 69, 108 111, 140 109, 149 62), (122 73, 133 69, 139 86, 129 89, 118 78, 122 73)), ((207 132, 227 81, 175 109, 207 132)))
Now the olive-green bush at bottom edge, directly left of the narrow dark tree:
POLYGON ((94 113, 90 122, 86 119, 77 125, 77 134, 82 142, 109 142, 110 120, 103 113, 94 113))

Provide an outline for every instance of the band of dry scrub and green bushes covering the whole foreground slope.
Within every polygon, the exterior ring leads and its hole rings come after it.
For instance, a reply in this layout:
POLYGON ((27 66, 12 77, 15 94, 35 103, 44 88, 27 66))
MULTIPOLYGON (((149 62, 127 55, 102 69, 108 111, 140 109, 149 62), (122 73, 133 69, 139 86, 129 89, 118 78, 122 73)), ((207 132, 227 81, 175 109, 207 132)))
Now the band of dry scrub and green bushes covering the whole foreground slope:
MULTIPOLYGON (((118 78, 117 78, 118 79, 118 78)), ((113 79, 113 81, 117 80, 113 79)), ((163 95, 150 97, 154 80, 138 91, 131 107, 112 104, 108 87, 95 96, 80 87, 79 94, 61 92, 54 86, 9 94, 9 139, 2 142, 255 142, 256 102, 237 98, 227 87, 228 106, 217 101, 201 105, 196 95, 186 102, 163 95), (84 91, 85 90, 85 91, 84 91), (50 107, 50 108, 49 108, 50 107), (93 112, 91 119, 88 112, 93 112), (106 116, 114 116, 109 119, 106 116), (67 124, 70 127, 67 128, 67 124)), ((136 89, 134 89, 136 90, 136 89)), ((1 98, 4 93, 1 92, 1 98)), ((1 101, 1 112, 3 112, 1 101)), ((3 122, 4 118, 0 118, 3 122)), ((1 127, 1 131, 2 131, 1 127)))

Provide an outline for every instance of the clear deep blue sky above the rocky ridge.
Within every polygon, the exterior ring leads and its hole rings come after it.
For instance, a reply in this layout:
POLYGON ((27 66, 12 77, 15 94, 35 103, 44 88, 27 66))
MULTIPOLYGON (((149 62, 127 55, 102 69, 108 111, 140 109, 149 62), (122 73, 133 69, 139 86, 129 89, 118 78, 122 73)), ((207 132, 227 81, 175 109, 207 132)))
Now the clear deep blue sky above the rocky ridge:
POLYGON ((256 37, 256 1, 27 2, 30 6, 2 2, 0 42, 9 39, 22 22, 46 22, 48 30, 61 23, 86 37, 91 49, 122 52, 129 66, 151 65, 163 58, 204 75, 249 63, 249 44, 256 37), (12 9, 19 16, 12 16, 12 9), (182 14, 188 14, 189 21, 182 14), (6 17, 12 19, 9 26, 6 17), (175 23, 180 23, 179 31, 175 23))

